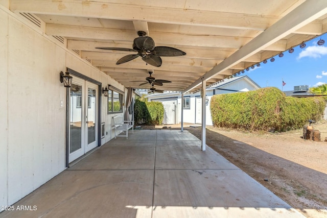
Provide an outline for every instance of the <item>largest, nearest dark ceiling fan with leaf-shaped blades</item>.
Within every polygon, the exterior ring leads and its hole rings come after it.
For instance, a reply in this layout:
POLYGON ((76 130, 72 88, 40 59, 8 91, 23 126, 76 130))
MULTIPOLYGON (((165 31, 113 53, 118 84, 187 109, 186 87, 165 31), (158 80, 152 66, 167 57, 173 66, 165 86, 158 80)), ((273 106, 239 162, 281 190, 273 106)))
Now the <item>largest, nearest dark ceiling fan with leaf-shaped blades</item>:
POLYGON ((137 52, 136 55, 126 55, 119 59, 116 64, 126 63, 137 57, 142 57, 142 60, 147 64, 159 67, 162 64, 162 57, 176 57, 186 55, 185 52, 168 46, 154 46, 154 41, 151 37, 146 36, 144 31, 137 31, 138 37, 134 39, 133 49, 126 49, 124 47, 96 47, 96 49, 137 52))

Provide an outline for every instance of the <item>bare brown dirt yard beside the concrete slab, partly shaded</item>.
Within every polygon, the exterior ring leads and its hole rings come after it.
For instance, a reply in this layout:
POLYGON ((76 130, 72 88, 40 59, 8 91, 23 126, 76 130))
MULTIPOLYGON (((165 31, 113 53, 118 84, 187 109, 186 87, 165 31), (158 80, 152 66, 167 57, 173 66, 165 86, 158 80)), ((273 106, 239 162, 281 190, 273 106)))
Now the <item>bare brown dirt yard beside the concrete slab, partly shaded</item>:
MULTIPOLYGON (((189 125, 184 130, 201 138, 201 128, 189 125)), ((206 144, 303 215, 327 217, 327 123, 312 126, 321 132, 321 141, 302 139, 302 129, 259 133, 206 126, 206 144)))

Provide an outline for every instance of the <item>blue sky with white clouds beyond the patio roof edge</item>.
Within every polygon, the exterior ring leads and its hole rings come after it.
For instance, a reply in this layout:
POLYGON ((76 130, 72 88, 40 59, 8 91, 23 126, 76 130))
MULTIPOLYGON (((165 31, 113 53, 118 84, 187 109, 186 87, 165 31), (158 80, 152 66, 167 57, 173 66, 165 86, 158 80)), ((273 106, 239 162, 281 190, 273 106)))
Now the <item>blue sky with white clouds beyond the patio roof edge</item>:
POLYGON ((327 34, 321 36, 325 40, 323 45, 317 45, 320 37, 306 42, 306 47, 300 49, 294 47, 294 52, 290 54, 284 52, 284 57, 274 56, 275 61, 260 63, 260 67, 255 67, 244 74, 250 77, 262 88, 268 86, 282 89, 282 80, 286 83, 284 91, 294 89, 294 86, 309 85, 314 87, 327 83, 327 34))

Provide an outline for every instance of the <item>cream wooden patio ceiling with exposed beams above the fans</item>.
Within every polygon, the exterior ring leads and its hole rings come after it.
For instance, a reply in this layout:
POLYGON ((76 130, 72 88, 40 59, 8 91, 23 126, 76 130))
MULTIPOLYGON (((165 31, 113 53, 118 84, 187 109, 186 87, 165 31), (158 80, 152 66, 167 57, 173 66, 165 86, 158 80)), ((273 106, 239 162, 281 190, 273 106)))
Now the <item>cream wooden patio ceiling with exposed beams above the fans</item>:
POLYGON ((262 0, 8 0, 1 4, 133 88, 149 88, 133 81, 146 82, 148 71, 153 71, 156 79, 171 81, 160 89, 195 92, 202 81, 211 85, 327 32, 325 0, 270 0, 269 4, 262 0), (160 67, 139 57, 116 65, 123 56, 136 53, 96 49, 132 49, 140 30, 156 46, 175 47, 186 55, 162 57, 160 67))

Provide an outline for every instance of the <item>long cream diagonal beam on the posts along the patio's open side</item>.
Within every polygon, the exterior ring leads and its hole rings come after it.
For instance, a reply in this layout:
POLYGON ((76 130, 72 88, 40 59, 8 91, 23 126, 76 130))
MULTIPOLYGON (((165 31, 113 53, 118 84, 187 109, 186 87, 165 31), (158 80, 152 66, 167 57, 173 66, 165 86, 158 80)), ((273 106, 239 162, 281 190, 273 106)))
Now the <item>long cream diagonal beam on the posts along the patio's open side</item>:
POLYGON ((240 63, 255 53, 264 50, 272 43, 286 37, 307 25, 315 19, 327 13, 327 1, 325 0, 308 0, 295 8, 289 14, 278 20, 271 27, 245 44, 238 51, 226 58, 223 62, 206 72, 206 74, 182 92, 188 92, 201 84, 202 80, 208 80, 231 66, 240 63))

